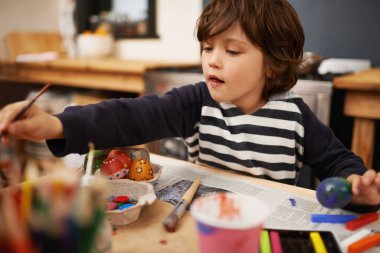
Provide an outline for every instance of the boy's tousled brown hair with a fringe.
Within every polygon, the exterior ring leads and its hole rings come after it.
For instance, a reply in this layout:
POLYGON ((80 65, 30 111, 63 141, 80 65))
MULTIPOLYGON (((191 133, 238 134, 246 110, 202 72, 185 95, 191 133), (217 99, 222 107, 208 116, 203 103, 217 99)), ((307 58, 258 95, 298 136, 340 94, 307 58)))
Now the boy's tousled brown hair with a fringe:
POLYGON ((299 17, 287 0, 213 0, 197 22, 197 38, 204 42, 235 23, 264 55, 272 70, 264 96, 291 89, 298 80, 305 41, 299 17))

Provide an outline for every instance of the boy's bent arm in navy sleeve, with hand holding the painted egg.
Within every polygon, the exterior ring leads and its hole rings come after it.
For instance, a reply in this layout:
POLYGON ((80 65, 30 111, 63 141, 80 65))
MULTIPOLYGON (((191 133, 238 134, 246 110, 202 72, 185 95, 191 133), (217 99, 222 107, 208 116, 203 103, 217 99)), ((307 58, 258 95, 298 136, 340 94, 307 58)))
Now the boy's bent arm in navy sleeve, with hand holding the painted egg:
POLYGON ((320 180, 345 177, 352 184, 353 200, 344 209, 371 212, 379 209, 380 176, 367 170, 356 156, 335 137, 330 128, 319 122, 306 104, 301 104, 305 127, 305 163, 320 180))

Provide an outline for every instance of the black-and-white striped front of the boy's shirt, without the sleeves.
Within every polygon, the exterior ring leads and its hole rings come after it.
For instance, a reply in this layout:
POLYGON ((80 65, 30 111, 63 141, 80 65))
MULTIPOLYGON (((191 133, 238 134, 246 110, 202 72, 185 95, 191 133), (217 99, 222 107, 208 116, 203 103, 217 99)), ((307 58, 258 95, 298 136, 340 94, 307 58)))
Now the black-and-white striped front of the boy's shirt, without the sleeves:
POLYGON ((202 107, 195 133, 186 139, 189 160, 294 181, 302 168, 304 128, 291 98, 272 98, 252 115, 233 104, 202 107))

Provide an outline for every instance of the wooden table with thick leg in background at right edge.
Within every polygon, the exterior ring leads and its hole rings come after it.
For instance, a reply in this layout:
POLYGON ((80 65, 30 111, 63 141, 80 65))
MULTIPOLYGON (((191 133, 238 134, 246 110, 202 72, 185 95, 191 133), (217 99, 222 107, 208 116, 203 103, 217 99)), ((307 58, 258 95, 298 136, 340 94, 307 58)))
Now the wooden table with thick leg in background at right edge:
POLYGON ((380 68, 337 77, 334 86, 347 90, 344 114, 355 118, 351 149, 372 168, 375 120, 380 119, 380 68))

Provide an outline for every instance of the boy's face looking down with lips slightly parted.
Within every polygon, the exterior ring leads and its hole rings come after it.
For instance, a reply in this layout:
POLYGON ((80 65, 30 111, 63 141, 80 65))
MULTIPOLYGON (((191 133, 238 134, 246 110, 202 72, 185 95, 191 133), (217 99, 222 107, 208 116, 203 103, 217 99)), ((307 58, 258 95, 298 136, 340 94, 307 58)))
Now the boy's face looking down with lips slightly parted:
POLYGON ((265 100, 264 54, 245 36, 240 25, 202 42, 202 69, 211 97, 252 113, 265 100))

